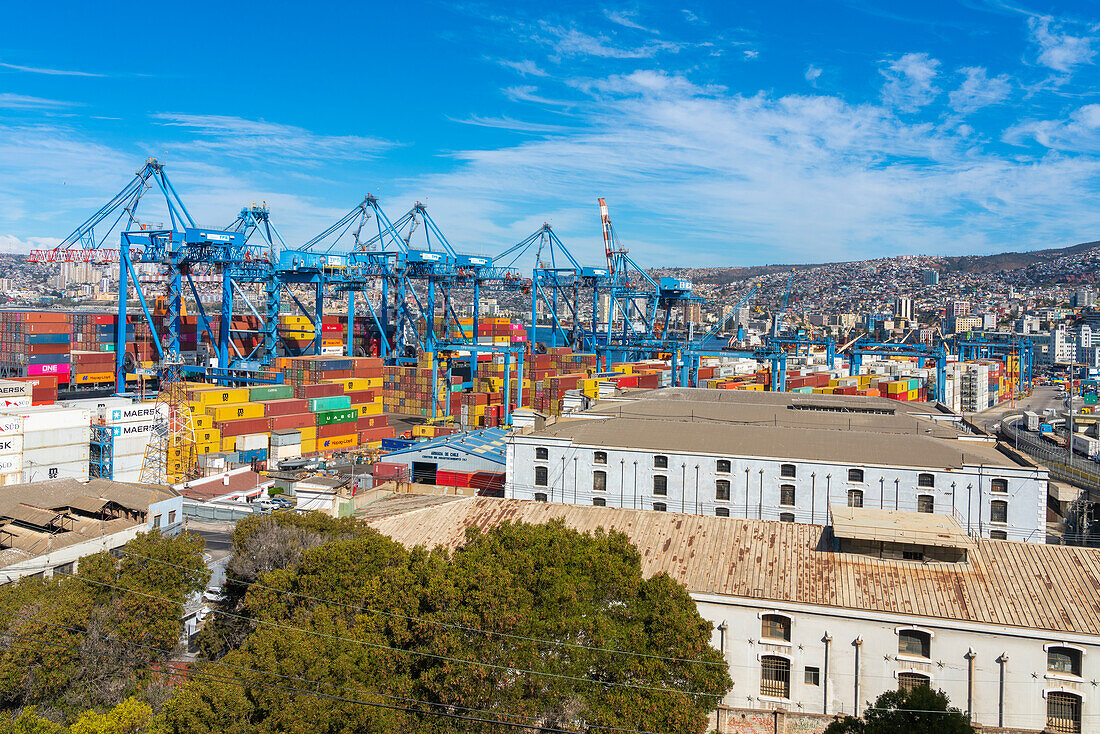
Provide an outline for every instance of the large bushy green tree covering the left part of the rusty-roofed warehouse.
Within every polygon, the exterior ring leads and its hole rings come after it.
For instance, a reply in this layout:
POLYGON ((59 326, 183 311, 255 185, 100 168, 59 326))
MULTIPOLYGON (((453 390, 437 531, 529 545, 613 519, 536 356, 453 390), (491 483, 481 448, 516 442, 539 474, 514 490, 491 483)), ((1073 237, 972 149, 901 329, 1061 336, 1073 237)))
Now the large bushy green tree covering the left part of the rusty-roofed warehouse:
POLYGON ((354 702, 365 701, 697 733, 733 684, 686 591, 644 579, 625 535, 503 525, 448 555, 365 526, 337 533, 346 537, 262 574, 271 589, 249 589, 252 632, 202 669, 221 679, 168 702, 167 731, 510 731, 354 702))

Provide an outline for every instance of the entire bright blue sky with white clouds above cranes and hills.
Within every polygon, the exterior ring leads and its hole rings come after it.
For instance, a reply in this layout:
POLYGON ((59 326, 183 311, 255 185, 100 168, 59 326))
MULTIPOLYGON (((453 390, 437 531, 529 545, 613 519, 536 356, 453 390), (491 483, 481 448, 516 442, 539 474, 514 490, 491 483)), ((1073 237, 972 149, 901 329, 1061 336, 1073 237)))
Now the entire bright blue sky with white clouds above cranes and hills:
POLYGON ((3 11, 0 250, 148 155, 200 222, 264 200, 292 244, 366 193, 593 264, 597 196, 646 265, 1100 239, 1094 2, 110 7, 3 11))

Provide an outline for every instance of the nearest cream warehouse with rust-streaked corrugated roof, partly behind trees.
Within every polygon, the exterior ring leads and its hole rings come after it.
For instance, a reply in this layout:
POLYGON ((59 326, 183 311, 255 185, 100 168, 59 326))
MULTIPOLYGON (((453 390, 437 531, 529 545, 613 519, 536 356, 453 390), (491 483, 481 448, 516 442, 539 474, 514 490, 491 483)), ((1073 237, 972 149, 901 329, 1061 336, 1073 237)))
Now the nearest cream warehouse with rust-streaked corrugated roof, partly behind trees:
POLYGON ((372 526, 448 549, 505 522, 626 534, 642 574, 682 583, 713 624, 734 680, 723 732, 743 731, 746 710, 815 714, 799 731, 821 732, 919 684, 982 726, 1094 731, 1100 550, 971 538, 947 516, 835 512, 825 528, 471 497, 372 526))

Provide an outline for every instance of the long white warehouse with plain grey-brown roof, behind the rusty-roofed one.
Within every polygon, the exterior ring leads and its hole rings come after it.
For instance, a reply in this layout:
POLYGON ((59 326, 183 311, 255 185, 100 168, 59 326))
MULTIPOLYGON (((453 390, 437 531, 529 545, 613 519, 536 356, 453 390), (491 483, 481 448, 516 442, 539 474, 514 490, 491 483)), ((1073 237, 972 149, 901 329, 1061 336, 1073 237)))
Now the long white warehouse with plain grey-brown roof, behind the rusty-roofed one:
POLYGON ((505 496, 828 525, 849 505, 1044 543, 1047 472, 958 416, 887 398, 664 388, 515 434, 505 496))

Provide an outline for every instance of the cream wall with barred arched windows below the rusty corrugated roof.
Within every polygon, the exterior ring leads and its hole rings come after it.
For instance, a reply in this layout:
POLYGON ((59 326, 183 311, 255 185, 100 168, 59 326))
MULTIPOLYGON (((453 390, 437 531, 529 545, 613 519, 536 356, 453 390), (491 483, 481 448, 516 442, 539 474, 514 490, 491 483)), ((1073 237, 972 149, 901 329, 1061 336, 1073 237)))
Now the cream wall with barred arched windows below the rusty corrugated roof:
MULTIPOLYGON (((767 712, 784 709, 826 717, 854 715, 880 693, 897 689, 899 672, 911 671, 927 676, 931 686, 944 690, 952 705, 964 712, 968 710, 967 692, 972 690, 972 719, 983 726, 1042 730, 1049 691, 1082 697, 1084 731, 1100 720, 1100 697, 1091 683, 1100 679, 1100 640, 1092 637, 704 594, 693 598, 702 616, 715 625, 712 642, 729 664, 734 688, 723 701, 727 706, 767 712), (768 613, 790 617, 790 643, 762 639, 761 615, 768 613), (718 628, 723 624, 724 633, 718 628), (927 659, 899 654, 899 631, 905 627, 932 634, 927 659), (1076 645, 1082 650, 1079 678, 1047 671, 1045 646, 1050 644, 1076 645), (765 655, 790 661, 789 699, 761 695, 765 655), (807 666, 821 671, 818 686, 805 682, 807 666)), ((738 725, 748 727, 744 731, 758 731, 752 722, 738 725)))

